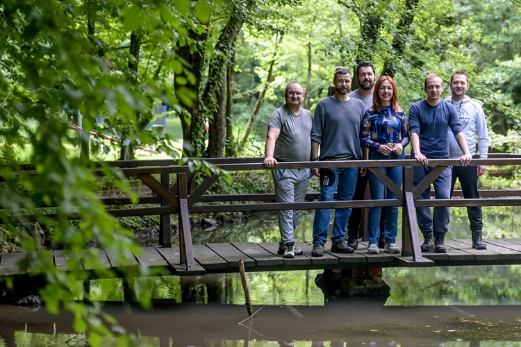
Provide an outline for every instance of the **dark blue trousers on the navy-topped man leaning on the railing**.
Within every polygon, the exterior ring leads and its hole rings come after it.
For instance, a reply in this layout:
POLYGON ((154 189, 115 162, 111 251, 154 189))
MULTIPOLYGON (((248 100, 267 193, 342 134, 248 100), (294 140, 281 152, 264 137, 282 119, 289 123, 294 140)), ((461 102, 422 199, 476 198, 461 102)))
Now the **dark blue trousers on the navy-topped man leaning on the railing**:
MULTIPOLYGON (((435 167, 413 167, 413 183, 416 187, 425 176, 435 167)), ((434 180, 434 192, 436 198, 450 198, 450 186, 452 180, 452 167, 447 167, 436 180, 434 180)), ((428 200, 431 198, 431 187, 425 189, 419 199, 428 200)), ((416 208, 416 218, 418 226, 425 236, 432 235, 432 232, 447 232, 449 230, 450 208, 434 208, 434 215, 431 208, 416 208)))

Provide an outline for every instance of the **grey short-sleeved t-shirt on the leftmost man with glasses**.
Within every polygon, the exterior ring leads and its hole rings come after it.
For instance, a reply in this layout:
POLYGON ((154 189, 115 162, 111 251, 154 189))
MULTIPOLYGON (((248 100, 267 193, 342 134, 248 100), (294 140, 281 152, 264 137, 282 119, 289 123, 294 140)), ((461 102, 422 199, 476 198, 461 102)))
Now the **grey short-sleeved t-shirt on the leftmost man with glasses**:
POLYGON ((280 162, 307 162, 311 155, 311 127, 313 116, 310 110, 300 109, 294 115, 286 105, 273 111, 268 128, 280 129, 275 142, 273 157, 280 162))

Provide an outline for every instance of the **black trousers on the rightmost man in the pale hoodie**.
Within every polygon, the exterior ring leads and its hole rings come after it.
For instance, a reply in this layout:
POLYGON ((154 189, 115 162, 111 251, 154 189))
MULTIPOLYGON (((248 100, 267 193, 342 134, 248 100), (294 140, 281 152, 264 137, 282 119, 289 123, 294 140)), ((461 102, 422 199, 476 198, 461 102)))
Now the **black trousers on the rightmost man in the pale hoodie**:
MULTIPOLYGON (((464 198, 479 198, 479 178, 477 167, 452 167, 452 185, 450 186, 450 196, 454 192, 454 184, 458 178, 464 198)), ((468 220, 470 221, 470 231, 481 232, 483 230, 483 213, 481 207, 467 208, 468 220)))

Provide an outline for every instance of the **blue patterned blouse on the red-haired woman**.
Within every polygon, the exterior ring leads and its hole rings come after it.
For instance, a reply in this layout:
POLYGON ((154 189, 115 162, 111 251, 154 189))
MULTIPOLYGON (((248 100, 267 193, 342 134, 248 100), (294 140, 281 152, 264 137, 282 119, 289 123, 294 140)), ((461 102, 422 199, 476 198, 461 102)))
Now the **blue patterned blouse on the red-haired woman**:
POLYGON ((400 108, 395 112, 391 106, 383 106, 377 113, 373 108, 369 108, 363 116, 360 140, 363 146, 373 151, 378 151, 381 144, 388 142, 407 146, 409 130, 404 110, 400 108))

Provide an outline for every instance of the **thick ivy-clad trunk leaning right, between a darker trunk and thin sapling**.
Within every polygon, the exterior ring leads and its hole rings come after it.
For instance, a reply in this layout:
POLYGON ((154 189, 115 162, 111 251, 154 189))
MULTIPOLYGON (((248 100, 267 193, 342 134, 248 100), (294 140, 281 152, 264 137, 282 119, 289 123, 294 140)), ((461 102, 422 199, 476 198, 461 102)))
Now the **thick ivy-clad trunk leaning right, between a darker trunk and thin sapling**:
POLYGON ((217 43, 215 51, 223 54, 217 55, 210 62, 208 73, 208 83, 204 88, 203 103, 212 115, 210 126, 210 135, 208 137, 207 155, 211 158, 220 158, 224 154, 224 140, 226 139, 226 113, 224 107, 226 105, 226 70, 228 69, 231 54, 235 49, 235 38, 240 32, 244 24, 244 15, 240 13, 237 6, 233 5, 228 23, 223 28, 217 43))

